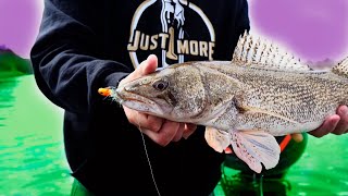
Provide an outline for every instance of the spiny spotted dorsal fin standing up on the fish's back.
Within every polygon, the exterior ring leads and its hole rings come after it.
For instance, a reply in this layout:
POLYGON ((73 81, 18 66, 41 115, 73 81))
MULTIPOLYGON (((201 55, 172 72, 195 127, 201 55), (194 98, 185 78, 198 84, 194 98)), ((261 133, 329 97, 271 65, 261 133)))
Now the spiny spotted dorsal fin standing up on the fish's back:
POLYGON ((239 37, 233 63, 262 69, 308 71, 307 64, 264 38, 254 38, 247 32, 239 37))

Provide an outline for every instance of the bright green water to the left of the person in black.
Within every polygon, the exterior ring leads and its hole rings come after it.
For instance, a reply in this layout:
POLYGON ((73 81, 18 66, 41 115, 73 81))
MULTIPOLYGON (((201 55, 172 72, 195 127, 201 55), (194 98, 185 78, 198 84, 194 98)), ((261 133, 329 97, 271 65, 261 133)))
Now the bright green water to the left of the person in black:
POLYGON ((0 78, 0 195, 69 195, 61 114, 33 75, 0 78))

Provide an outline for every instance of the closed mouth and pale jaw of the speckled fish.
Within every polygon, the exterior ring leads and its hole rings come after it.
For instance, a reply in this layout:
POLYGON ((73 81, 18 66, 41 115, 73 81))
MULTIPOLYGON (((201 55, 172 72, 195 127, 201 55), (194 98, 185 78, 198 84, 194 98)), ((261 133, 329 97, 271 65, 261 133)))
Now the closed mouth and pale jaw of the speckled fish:
POLYGON ((125 89, 117 89, 114 98, 117 102, 127 108, 150 114, 163 114, 163 110, 157 102, 141 95, 134 94, 125 89))

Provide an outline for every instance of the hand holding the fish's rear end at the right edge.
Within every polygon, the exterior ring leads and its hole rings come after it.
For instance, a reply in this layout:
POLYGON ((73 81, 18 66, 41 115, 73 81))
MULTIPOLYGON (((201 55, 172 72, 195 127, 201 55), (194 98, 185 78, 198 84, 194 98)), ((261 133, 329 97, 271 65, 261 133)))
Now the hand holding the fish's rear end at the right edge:
MULTIPOLYGON (((320 127, 309 132, 309 134, 313 135, 314 137, 322 137, 324 135, 327 135, 328 133, 335 135, 348 133, 347 106, 338 107, 336 114, 327 117, 320 127)), ((296 142, 301 142, 303 139, 301 134, 291 134, 291 136, 296 142)))

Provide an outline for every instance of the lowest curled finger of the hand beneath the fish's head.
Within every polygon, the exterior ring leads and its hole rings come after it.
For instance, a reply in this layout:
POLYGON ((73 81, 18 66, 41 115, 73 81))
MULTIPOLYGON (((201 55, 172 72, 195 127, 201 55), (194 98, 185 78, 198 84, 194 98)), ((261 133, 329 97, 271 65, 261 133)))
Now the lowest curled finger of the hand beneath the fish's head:
POLYGON ((179 123, 166 120, 159 132, 145 130, 142 133, 149 136, 154 143, 166 146, 173 140, 178 127, 179 123))

